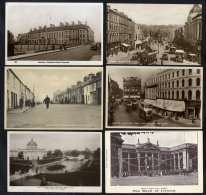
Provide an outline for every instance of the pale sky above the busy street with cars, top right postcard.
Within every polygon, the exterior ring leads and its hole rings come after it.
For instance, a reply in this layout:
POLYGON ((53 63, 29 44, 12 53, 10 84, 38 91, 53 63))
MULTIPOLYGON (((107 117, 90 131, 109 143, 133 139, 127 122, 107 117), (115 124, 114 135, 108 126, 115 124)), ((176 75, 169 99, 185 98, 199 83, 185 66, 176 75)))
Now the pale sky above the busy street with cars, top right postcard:
POLYGON ((193 4, 108 4, 138 24, 184 25, 193 4))

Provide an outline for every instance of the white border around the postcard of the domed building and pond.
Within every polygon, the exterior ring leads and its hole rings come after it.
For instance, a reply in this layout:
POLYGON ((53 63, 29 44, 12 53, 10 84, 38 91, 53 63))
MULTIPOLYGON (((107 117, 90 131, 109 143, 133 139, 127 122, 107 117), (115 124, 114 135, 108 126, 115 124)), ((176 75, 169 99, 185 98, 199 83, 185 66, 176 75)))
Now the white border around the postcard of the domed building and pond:
POLYGON ((91 193, 101 193, 102 192, 102 133, 101 132, 7 132, 7 190, 8 192, 91 192, 91 193), (11 134, 99 134, 100 136, 100 186, 10 186, 10 135, 11 134))

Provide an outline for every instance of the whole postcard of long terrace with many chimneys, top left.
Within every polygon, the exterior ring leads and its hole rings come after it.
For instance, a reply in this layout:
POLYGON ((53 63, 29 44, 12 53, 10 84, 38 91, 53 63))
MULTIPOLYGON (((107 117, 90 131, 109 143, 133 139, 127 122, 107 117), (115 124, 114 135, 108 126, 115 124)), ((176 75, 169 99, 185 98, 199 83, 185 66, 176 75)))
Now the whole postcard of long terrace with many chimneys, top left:
POLYGON ((6 3, 5 36, 7 65, 103 65, 103 4, 6 3))

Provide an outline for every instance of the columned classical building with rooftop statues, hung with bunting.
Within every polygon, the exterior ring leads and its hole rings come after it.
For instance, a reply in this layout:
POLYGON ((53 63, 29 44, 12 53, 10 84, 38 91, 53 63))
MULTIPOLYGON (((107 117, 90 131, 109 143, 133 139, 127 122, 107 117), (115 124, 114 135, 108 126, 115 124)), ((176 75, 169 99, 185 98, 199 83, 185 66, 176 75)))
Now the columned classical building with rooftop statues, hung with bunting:
POLYGON ((147 171, 196 170, 197 144, 183 143, 174 147, 162 147, 159 142, 124 144, 119 133, 111 134, 111 176, 143 175, 147 171))

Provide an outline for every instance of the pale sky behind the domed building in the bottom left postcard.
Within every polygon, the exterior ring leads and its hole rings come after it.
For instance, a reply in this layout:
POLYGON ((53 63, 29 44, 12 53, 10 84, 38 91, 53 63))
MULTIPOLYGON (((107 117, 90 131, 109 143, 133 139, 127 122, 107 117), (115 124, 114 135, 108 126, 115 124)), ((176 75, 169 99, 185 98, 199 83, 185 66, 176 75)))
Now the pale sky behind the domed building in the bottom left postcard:
POLYGON ((100 134, 95 133, 14 133, 10 134, 10 149, 25 149, 31 139, 39 149, 84 150, 100 148, 100 134))

